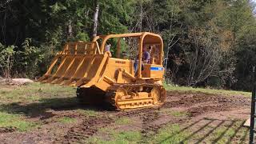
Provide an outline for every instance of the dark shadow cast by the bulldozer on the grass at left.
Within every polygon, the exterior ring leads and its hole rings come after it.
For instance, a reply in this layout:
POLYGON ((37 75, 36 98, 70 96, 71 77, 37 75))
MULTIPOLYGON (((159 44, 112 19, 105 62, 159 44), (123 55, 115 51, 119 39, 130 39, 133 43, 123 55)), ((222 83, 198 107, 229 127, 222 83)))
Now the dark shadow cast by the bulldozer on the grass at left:
POLYGON ((103 111, 110 110, 104 105, 88 105, 78 102, 77 98, 43 98, 39 102, 34 103, 22 103, 13 102, 10 104, 0 105, 0 111, 9 114, 23 114, 29 118, 41 119, 51 118, 54 116, 50 110, 62 111, 62 110, 94 110, 103 111))

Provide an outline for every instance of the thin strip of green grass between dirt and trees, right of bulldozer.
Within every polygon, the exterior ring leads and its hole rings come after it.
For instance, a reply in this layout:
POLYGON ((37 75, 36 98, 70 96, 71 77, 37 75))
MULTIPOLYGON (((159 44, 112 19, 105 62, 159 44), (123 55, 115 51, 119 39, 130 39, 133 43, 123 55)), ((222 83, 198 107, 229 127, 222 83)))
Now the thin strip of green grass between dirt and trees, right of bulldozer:
POLYGON ((192 93, 206 93, 206 94, 223 94, 223 95, 242 95, 242 96, 249 96, 251 95, 250 92, 244 91, 235 91, 235 90, 214 90, 214 89, 207 89, 207 88, 193 88, 193 87, 186 87, 186 86, 173 86, 173 85, 164 85, 166 90, 170 91, 178 91, 178 92, 192 92, 192 93))

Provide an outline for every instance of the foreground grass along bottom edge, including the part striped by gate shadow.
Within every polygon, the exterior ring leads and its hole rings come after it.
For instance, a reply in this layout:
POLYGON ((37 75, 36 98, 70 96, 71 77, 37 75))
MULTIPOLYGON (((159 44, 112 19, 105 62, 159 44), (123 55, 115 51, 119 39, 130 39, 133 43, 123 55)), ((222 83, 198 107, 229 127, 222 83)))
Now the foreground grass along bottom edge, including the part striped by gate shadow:
POLYGON ((201 132, 203 133, 193 133, 198 130, 190 131, 182 130, 182 127, 178 124, 168 124, 166 126, 162 126, 158 131, 148 131, 150 137, 143 137, 142 133, 138 130, 115 130, 111 127, 105 127, 99 130, 98 135, 94 135, 86 139, 85 143, 162 143, 162 144, 176 144, 176 143, 193 143, 198 142, 198 140, 202 140, 201 143, 211 143, 214 142, 218 137, 218 141, 216 143, 224 144, 229 142, 232 139, 231 143, 241 142, 246 143, 248 141, 249 129, 245 127, 240 127, 242 125, 242 121, 235 122, 233 126, 231 126, 228 130, 229 124, 218 127, 216 130, 212 131, 210 135, 206 136, 208 131, 214 129, 214 126, 207 126, 201 132), (240 128, 239 128, 240 127, 240 128), (193 135, 193 136, 192 136, 193 135))

